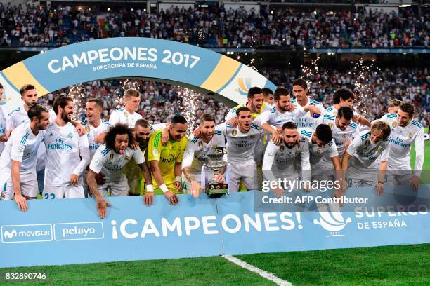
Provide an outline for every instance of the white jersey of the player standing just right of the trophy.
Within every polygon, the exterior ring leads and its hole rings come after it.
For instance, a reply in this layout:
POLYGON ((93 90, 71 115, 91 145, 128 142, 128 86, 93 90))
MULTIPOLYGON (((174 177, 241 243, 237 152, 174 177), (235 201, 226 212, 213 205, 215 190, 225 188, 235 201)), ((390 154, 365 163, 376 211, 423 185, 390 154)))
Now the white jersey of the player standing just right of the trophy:
POLYGON ((218 134, 227 139, 226 150, 228 163, 254 163, 254 147, 259 143, 261 137, 266 134, 259 126, 251 123, 251 128, 242 133, 239 127, 233 127, 228 123, 222 123, 215 128, 218 134))

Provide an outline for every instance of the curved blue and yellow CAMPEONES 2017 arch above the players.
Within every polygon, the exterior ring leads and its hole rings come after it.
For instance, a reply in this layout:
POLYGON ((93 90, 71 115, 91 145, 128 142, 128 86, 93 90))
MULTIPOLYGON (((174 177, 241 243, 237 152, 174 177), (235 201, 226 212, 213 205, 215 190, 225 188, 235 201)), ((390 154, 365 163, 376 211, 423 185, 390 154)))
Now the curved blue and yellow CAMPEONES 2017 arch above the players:
POLYGON ((137 37, 75 43, 0 72, 6 110, 22 104, 19 88, 27 83, 42 96, 78 83, 115 78, 174 83, 228 104, 243 102, 252 86, 276 88, 265 76, 225 55, 176 41, 137 37))

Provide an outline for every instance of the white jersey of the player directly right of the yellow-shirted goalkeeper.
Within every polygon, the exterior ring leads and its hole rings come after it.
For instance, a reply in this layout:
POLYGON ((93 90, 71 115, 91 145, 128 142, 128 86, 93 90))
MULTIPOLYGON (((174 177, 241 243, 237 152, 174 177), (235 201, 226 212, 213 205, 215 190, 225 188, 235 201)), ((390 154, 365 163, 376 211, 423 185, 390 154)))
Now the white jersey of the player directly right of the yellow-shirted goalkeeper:
MULTIPOLYGON (((222 154, 225 151, 226 143, 223 134, 215 130, 214 137, 208 143, 203 142, 201 138, 192 136, 188 139, 187 147, 183 153, 182 168, 190 167, 191 172, 200 174, 202 166, 207 162, 207 154, 222 154)), ((224 152, 226 153, 226 152, 224 152)), ((227 155, 224 154, 223 161, 227 161, 227 155)))

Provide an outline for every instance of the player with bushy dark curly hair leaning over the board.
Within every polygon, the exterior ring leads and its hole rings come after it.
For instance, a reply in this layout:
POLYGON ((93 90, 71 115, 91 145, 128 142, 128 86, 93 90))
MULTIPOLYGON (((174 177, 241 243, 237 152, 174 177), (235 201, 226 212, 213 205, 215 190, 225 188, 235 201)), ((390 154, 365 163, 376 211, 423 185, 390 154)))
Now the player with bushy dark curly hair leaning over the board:
MULTIPOLYGON (((150 170, 145 164, 145 157, 141 149, 132 149, 133 133, 125 124, 116 124, 106 133, 105 144, 101 145, 91 160, 86 183, 91 195, 97 200, 98 214, 105 217, 106 196, 110 191, 111 196, 126 196, 129 192, 127 178, 122 169, 131 158, 138 164, 143 172, 146 182, 152 182, 150 170), (97 186, 96 175, 102 173, 104 184, 97 186), (100 192, 99 192, 100 191, 100 192)), ((152 189, 152 184, 147 184, 147 189, 152 189)))

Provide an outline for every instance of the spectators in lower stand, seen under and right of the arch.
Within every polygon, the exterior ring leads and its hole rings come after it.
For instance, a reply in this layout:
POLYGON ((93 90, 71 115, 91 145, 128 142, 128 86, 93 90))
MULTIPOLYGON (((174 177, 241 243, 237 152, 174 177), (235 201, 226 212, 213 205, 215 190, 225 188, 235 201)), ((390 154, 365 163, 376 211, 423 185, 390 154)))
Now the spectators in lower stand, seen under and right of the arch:
MULTIPOLYGON (((262 68, 261 74, 271 79, 278 86, 285 86, 292 89, 292 82, 301 76, 302 71, 292 71, 291 69, 262 68)), ((365 83, 372 95, 358 97, 357 111, 372 121, 380 118, 386 113, 386 107, 392 99, 409 101, 414 104, 417 110, 417 118, 424 126, 430 123, 430 114, 427 111, 430 104, 430 74, 427 69, 384 69, 380 72, 372 72, 370 82, 365 83)), ((318 69, 308 77, 308 94, 314 100, 322 102, 323 106, 329 107, 332 104, 333 93, 339 87, 349 88, 357 91, 356 76, 348 71, 336 71, 334 69, 318 69)), ((183 88, 171 86, 165 83, 155 83, 152 81, 133 81, 134 88, 138 88, 141 93, 141 105, 139 113, 143 118, 148 118, 150 123, 169 122, 175 114, 183 114, 185 105, 183 88)), ((49 94, 41 98, 46 106, 52 107, 53 98, 56 95, 67 94, 67 89, 58 90, 54 94, 49 94)), ((80 114, 79 118, 84 119, 84 105, 91 97, 100 98, 104 102, 103 118, 109 119, 110 114, 117 107, 123 105, 122 94, 124 93, 124 83, 119 80, 91 81, 83 83, 80 89, 82 94, 79 97, 80 114)), ((209 112, 215 116, 216 123, 223 122, 224 116, 228 112, 228 107, 222 102, 217 102, 207 95, 200 95, 195 104, 197 107, 196 118, 204 112, 209 112)))

